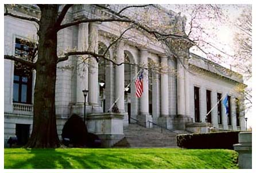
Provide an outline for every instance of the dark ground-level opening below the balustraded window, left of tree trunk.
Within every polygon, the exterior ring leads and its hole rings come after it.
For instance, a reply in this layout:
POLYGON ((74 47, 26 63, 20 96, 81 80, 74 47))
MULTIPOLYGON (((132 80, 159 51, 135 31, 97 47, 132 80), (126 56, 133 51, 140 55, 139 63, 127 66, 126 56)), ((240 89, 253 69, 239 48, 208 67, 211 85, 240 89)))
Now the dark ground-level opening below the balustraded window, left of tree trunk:
POLYGON ((18 138, 18 145, 24 146, 29 140, 30 124, 16 124, 16 136, 18 138))

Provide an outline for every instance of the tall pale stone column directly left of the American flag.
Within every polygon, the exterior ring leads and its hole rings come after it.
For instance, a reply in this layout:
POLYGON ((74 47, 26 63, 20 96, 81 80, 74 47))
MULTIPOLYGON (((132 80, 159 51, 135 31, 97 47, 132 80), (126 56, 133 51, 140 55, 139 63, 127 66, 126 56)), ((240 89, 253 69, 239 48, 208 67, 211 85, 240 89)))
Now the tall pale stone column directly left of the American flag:
MULTIPOLYGON (((123 42, 119 42, 117 46, 117 63, 125 60, 123 52, 123 42)), ((117 106, 120 112, 125 111, 125 65, 115 66, 115 99, 118 99, 117 106)))

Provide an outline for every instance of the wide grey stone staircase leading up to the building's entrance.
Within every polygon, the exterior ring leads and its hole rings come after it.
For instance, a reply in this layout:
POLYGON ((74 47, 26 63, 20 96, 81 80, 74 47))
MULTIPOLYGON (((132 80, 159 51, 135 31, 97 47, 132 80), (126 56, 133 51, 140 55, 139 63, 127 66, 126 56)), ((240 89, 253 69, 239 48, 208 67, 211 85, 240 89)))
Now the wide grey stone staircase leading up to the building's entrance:
MULTIPOLYGON (((188 133, 175 131, 176 133, 188 133)), ((113 147, 177 147, 176 133, 153 125, 153 128, 145 128, 138 124, 129 124, 124 127, 125 137, 113 147)))

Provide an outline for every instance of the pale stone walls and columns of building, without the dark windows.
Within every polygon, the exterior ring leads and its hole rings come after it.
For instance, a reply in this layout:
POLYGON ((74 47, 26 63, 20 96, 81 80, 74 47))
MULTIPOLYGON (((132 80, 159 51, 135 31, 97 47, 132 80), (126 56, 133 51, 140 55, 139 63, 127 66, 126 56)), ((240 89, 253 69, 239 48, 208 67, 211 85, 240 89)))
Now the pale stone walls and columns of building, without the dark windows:
MULTIPOLYGON (((26 7, 31 8, 30 6, 26 7)), ((72 9, 72 13, 68 13, 65 21, 72 21, 92 12, 93 15, 103 15, 100 10, 92 11, 88 9, 91 9, 90 5, 76 5, 72 9)), ((106 34, 117 35, 118 32, 115 30, 117 27, 117 23, 107 22, 83 23, 68 27, 58 33, 58 50, 61 52, 61 50, 68 48, 77 48, 78 50, 88 49, 98 52, 100 44, 110 45, 110 39, 106 34)), ((132 36, 133 32, 128 32, 127 35, 132 36)), ((14 54, 15 38, 17 37, 25 40, 35 38, 34 41, 36 41, 34 23, 5 16, 5 54, 14 54)), ((243 82, 242 77, 238 74, 234 73, 231 77, 218 74, 214 71, 214 67, 212 69, 205 68, 204 64, 207 61, 197 56, 192 56, 188 61, 188 69, 193 71, 193 73, 190 73, 175 58, 162 56, 165 50, 161 45, 148 44, 145 46, 144 40, 144 38, 141 38, 139 40, 122 41, 108 50, 109 56, 117 62, 123 62, 125 54, 129 61, 135 64, 148 65, 148 61, 161 62, 170 68, 177 69, 178 76, 154 73, 152 79, 149 79, 148 71, 145 70, 143 95, 138 99, 135 97, 134 86, 134 79, 139 70, 136 66, 128 66, 130 69, 127 69, 125 65, 115 66, 111 62, 106 62, 103 70, 95 59, 91 59, 87 66, 79 65, 81 62, 79 58, 70 57, 69 60, 60 62, 57 69, 56 116, 59 135, 61 135, 65 121, 72 113, 83 116, 83 89, 89 90, 86 100, 88 131, 94 132, 102 139, 107 140, 112 140, 117 136, 113 141, 123 137, 123 126, 129 125, 129 122, 133 123, 133 119, 139 120, 148 128, 152 127, 152 124, 148 121, 168 129, 185 129, 186 123, 195 123, 194 87, 200 88, 200 123, 205 123, 207 113, 206 90, 211 91, 212 107, 217 103, 217 92, 222 93, 222 95, 228 93, 231 100, 238 97, 234 88, 237 84, 243 82), (196 68, 191 68, 191 65, 196 68), (199 72, 199 69, 204 70, 199 72), (125 74, 125 71, 130 74, 125 74), (101 82, 99 81, 100 75, 104 78, 104 88, 100 88, 99 85, 99 82, 101 82), (129 92, 125 92, 126 81, 131 82, 129 92), (151 81, 150 84, 149 81, 151 81), (151 85, 152 87, 150 87, 151 85), (108 112, 115 100, 117 100, 120 115, 103 113, 108 112), (130 117, 133 119, 130 119, 130 117), (104 128, 102 124, 104 124, 104 128)), ((30 124, 31 132, 33 124, 33 89, 32 104, 13 103, 14 62, 5 60, 4 68, 6 143, 10 136, 15 135, 15 124, 30 124)), ((35 77, 36 72, 33 73, 32 88, 34 88, 35 77)), ((231 104, 231 125, 227 125, 227 116, 222 105, 222 124, 218 124, 217 108, 214 108, 212 111, 212 126, 223 130, 245 130, 244 113, 240 113, 241 122, 240 126, 237 127, 234 101, 231 101, 231 104)), ((110 142, 106 146, 113 144, 113 142, 110 142)))

